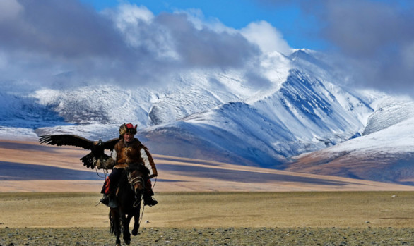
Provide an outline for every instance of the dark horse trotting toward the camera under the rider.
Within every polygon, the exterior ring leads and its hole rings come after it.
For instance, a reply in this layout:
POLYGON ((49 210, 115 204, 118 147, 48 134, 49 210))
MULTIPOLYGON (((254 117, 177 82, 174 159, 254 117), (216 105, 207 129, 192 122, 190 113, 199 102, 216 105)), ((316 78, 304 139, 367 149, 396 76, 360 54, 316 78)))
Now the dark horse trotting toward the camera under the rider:
POLYGON ((129 164, 124 169, 117 188, 117 207, 111 207, 111 233, 117 237, 117 246, 121 245, 121 232, 126 245, 131 243, 129 222, 134 216, 132 235, 138 235, 141 198, 150 171, 142 164, 129 164))

